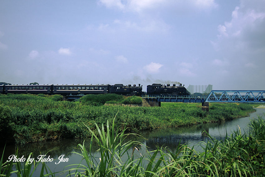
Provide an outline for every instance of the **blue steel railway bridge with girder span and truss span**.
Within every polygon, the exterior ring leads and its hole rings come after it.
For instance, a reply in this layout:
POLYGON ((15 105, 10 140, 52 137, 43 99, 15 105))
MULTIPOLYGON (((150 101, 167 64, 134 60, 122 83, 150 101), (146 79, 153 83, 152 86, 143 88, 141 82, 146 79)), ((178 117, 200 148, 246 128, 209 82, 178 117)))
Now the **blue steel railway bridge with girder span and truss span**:
POLYGON ((265 91, 213 90, 209 96, 192 95, 142 95, 143 99, 157 102, 241 102, 265 103, 265 91))

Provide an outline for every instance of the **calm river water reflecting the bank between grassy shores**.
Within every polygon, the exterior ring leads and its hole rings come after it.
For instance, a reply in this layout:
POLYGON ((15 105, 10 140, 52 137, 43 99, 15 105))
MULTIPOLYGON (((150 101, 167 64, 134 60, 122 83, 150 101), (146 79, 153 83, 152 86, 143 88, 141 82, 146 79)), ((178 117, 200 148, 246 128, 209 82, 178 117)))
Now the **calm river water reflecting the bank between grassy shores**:
MULTIPOLYGON (((216 139, 224 139, 226 134, 230 136, 230 134, 233 133, 234 130, 237 130, 239 127, 242 133, 244 131, 248 132, 247 126, 252 118, 257 118, 258 116, 262 116, 263 119, 265 118, 265 109, 256 108, 256 110, 256 112, 251 113, 248 117, 221 123, 216 122, 189 127, 144 131, 141 132, 141 135, 146 139, 142 140, 142 143, 147 146, 148 150, 156 150, 157 146, 168 147, 169 150, 174 150, 179 142, 181 142, 181 144, 185 143, 190 147, 194 146, 196 150, 200 150, 201 142, 209 140, 209 137, 205 135, 204 131, 206 131, 210 136, 216 139)), ((47 153, 47 156, 50 155, 50 158, 54 159, 52 162, 47 162, 47 166, 51 169, 52 172, 58 172, 64 170, 64 167, 67 165, 80 163, 80 161, 82 160, 80 155, 72 152, 74 151, 80 153, 77 145, 79 143, 83 144, 83 141, 83 139, 64 139, 30 143, 26 145, 19 145, 17 147, 14 145, 7 145, 4 160, 7 160, 10 155, 13 155, 16 148, 18 148, 19 152, 18 157, 24 155, 24 157, 27 158, 27 156, 32 152, 35 160, 37 160, 38 155, 44 155, 47 153), (68 158, 69 161, 60 162, 56 165, 55 163, 59 162, 58 157, 61 155, 65 155, 64 158, 68 158)), ((86 140, 85 143, 88 145, 89 140, 86 140)), ((97 148, 97 146, 92 146, 94 156, 99 156, 99 154, 96 153, 97 148)), ((132 152, 132 150, 130 151, 132 152)), ((35 171, 36 176, 40 173, 40 170, 41 165, 35 171)), ((61 176, 66 175, 67 174, 63 174, 61 176)))

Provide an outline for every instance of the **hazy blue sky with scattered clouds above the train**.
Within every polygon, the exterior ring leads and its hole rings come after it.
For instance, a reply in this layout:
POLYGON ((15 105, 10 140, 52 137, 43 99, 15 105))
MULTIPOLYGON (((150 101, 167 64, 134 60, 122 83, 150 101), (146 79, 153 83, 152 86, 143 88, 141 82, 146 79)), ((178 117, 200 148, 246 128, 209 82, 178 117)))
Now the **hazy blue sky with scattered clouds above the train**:
POLYGON ((0 1, 0 82, 265 90, 264 0, 0 1))

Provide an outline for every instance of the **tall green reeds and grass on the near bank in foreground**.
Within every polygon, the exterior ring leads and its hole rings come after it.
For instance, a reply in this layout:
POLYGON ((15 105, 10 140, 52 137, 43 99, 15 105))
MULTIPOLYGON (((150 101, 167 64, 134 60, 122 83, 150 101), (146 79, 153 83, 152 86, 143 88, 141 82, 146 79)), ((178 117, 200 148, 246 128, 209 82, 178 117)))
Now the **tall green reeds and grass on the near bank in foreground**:
MULTIPOLYGON (((42 166, 40 176, 44 174, 44 169, 46 176, 69 174, 84 177, 261 177, 265 175, 265 121, 261 118, 251 121, 248 134, 242 134, 238 129, 224 140, 215 140, 209 135, 211 140, 202 142, 202 152, 181 144, 176 145, 174 152, 169 151, 167 147, 148 151, 138 141, 126 141, 126 137, 130 135, 126 133, 128 127, 119 132, 115 129, 117 124, 114 120, 112 126, 108 121, 106 127, 103 124, 101 127, 95 124, 97 135, 87 127, 92 135, 90 148, 87 149, 83 143, 78 145, 81 149, 80 154, 73 152, 83 157, 85 165, 73 164, 70 165, 72 167, 70 170, 49 174, 46 166, 42 166), (94 143, 99 146, 99 159, 95 158, 91 151, 94 143), (128 149, 133 149, 132 154, 128 153, 128 149)), ((1 176, 8 176, 10 173, 22 176, 21 163, 3 164, 1 159, 0 166, 1 176), (12 166, 15 166, 14 171, 12 166)), ((31 168, 24 165, 25 171, 29 173, 23 176, 30 176, 31 168)))

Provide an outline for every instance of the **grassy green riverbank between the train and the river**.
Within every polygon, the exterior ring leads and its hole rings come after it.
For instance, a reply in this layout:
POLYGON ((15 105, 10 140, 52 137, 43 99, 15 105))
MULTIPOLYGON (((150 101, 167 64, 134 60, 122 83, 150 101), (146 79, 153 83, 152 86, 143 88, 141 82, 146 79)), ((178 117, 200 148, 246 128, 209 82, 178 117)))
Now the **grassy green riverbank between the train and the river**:
MULTIPOLYGON (((233 103, 211 104, 209 112, 185 103, 162 107, 92 106, 23 94, 0 95, 0 110, 2 141, 19 144, 90 137, 86 126, 95 131, 94 123, 105 125, 114 116, 118 123, 126 124, 128 131, 137 132, 231 120, 255 111, 249 104, 233 103)), ((115 128, 121 131, 125 124, 115 128)))

